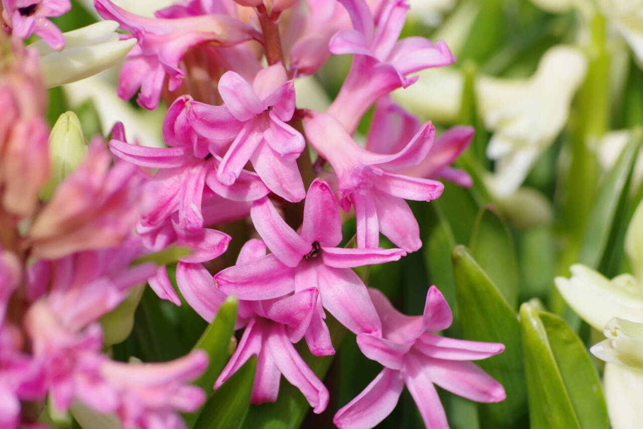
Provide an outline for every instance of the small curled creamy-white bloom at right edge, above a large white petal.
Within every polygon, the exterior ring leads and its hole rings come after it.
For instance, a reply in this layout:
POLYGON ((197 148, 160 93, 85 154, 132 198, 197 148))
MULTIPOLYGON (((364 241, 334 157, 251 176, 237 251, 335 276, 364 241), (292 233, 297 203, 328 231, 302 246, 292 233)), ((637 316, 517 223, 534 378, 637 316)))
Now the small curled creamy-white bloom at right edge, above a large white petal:
POLYGON ((643 368, 643 323, 611 318, 603 331, 607 339, 590 348, 599 359, 643 368))

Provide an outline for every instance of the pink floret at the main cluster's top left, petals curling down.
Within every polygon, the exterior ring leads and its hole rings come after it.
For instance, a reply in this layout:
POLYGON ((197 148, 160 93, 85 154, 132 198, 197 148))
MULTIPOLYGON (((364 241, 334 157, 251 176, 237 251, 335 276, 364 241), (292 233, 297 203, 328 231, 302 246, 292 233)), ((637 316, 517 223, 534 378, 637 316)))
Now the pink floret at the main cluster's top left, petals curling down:
POLYGON ((94 5, 104 19, 118 21, 120 28, 138 40, 127 54, 116 93, 129 100, 141 88, 138 104, 149 110, 158 106, 166 74, 170 91, 181 84, 185 72, 179 62, 189 48, 204 42, 235 46, 250 39, 262 40, 252 26, 228 15, 148 18, 131 14, 109 0, 95 0, 94 5))

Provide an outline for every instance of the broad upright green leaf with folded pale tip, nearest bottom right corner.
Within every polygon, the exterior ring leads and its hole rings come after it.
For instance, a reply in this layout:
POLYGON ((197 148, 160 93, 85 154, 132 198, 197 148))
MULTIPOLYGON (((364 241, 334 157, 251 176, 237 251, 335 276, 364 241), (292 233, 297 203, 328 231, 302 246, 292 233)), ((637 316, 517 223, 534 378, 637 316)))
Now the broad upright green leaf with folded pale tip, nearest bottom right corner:
POLYGON ((601 383, 581 339, 554 314, 520 307, 532 429, 609 428, 601 383))

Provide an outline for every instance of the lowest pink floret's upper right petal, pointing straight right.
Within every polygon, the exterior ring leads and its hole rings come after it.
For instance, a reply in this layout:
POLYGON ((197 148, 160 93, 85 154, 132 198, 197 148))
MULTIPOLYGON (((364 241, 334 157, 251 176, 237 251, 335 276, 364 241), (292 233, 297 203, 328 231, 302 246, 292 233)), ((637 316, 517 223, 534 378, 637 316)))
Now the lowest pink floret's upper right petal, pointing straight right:
POLYGON ((415 350, 435 359, 452 361, 473 361, 495 356, 505 350, 500 343, 483 343, 482 341, 465 341, 433 334, 422 334, 415 341, 415 350))

